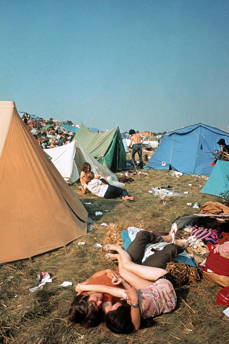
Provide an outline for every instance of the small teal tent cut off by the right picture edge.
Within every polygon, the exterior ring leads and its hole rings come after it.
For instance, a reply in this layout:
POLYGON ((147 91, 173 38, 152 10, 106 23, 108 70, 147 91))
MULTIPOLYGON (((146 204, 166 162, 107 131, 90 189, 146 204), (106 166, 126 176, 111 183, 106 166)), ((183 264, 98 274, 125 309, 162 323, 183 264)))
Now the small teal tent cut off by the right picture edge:
POLYGON ((220 196, 220 193, 229 191, 229 161, 217 160, 217 163, 210 174, 201 193, 220 196))

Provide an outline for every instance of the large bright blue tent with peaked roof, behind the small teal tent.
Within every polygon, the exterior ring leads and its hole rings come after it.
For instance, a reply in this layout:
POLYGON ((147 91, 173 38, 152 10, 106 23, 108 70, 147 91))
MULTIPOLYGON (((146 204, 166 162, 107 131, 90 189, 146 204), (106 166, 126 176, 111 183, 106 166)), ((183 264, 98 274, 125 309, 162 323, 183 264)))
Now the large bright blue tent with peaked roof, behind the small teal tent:
POLYGON ((219 149, 217 141, 224 138, 229 143, 225 131, 199 123, 194 126, 169 131, 163 137, 145 169, 180 171, 187 174, 210 175, 214 166, 214 149, 219 149), (164 163, 162 163, 164 162, 164 163))

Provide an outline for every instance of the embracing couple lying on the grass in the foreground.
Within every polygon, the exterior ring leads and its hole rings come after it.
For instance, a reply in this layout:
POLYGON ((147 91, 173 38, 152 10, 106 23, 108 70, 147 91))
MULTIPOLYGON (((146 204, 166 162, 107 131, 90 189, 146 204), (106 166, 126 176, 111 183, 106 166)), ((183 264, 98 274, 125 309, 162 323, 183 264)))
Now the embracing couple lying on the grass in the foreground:
POLYGON ((173 256, 196 240, 190 237, 176 245, 176 230, 177 227, 172 228, 167 236, 141 230, 127 251, 119 245, 103 245, 106 258, 117 261, 118 270, 96 272, 76 286, 77 296, 69 310, 69 321, 86 327, 96 326, 103 313, 106 325, 113 332, 130 333, 138 331, 146 319, 171 312, 176 305, 174 281, 164 268, 173 256), (146 244, 161 241, 171 245, 156 251, 140 265, 146 244))

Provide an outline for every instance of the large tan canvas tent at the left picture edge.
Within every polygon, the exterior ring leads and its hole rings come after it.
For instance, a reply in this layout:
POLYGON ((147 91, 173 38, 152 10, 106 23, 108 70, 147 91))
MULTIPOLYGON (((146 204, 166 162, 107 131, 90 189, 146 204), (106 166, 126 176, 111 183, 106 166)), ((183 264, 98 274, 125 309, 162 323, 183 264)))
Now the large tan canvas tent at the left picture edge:
POLYGON ((88 213, 18 115, 0 101, 0 264, 87 233, 88 213))

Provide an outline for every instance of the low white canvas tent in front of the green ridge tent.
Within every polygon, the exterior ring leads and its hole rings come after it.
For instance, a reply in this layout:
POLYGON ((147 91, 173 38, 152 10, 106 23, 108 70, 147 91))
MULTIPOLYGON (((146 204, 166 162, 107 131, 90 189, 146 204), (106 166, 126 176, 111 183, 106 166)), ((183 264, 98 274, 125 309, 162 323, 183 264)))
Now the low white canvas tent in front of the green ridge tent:
POLYGON ((101 175, 110 184, 124 186, 119 183, 116 175, 101 165, 92 155, 77 141, 72 141, 65 146, 44 149, 52 158, 52 162, 67 183, 76 182, 80 178, 81 165, 87 161, 95 174, 101 175))

